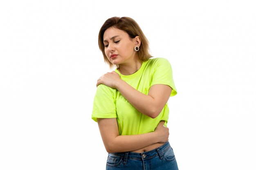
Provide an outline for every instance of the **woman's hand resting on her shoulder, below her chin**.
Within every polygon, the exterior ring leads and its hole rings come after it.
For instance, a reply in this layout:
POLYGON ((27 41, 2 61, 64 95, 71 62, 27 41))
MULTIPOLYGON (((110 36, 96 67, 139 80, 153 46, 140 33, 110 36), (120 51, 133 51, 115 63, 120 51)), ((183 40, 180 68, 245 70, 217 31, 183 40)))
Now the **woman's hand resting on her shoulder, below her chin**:
POLYGON ((115 71, 112 71, 110 73, 106 73, 99 77, 97 80, 96 86, 99 86, 99 84, 104 84, 106 86, 109 86, 111 88, 116 88, 116 84, 118 81, 120 81, 120 76, 115 71))

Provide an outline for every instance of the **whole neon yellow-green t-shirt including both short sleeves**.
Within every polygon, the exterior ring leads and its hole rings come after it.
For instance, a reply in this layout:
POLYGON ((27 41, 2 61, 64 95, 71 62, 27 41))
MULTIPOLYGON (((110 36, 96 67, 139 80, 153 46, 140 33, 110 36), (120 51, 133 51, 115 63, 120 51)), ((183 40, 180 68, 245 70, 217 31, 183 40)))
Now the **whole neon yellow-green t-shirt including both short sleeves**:
MULTIPOLYGON (((130 86, 146 95, 150 86, 154 84, 166 84, 173 89, 171 96, 177 94, 173 82, 171 64, 164 58, 153 58, 143 62, 141 68, 132 75, 121 75, 117 69, 115 72, 130 86)), ((165 125, 167 124, 168 115, 169 108, 167 103, 162 112, 155 119, 152 119, 141 114, 117 89, 103 84, 97 87, 92 119, 97 121, 97 118, 117 118, 119 135, 137 135, 153 132, 161 120, 166 122, 165 125)))

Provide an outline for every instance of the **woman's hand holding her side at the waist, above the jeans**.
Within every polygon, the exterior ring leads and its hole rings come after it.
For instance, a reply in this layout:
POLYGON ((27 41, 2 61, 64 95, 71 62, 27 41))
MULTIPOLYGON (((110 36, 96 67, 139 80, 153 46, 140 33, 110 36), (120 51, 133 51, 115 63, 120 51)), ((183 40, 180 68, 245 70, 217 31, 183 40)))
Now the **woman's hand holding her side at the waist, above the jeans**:
POLYGON ((165 143, 168 141, 169 137, 169 128, 164 126, 164 121, 160 121, 157 127, 155 128, 155 133, 159 139, 159 143, 165 143))

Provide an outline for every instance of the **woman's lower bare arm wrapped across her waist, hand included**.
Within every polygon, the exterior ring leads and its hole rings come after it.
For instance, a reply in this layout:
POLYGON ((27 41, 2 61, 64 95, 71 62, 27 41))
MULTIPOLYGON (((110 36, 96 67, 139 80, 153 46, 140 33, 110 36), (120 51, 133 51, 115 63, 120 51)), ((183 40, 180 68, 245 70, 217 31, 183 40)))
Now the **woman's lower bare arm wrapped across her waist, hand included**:
POLYGON ((130 152, 155 143, 168 141, 169 129, 161 121, 154 132, 140 135, 119 135, 116 118, 97 119, 101 138, 107 152, 130 152))

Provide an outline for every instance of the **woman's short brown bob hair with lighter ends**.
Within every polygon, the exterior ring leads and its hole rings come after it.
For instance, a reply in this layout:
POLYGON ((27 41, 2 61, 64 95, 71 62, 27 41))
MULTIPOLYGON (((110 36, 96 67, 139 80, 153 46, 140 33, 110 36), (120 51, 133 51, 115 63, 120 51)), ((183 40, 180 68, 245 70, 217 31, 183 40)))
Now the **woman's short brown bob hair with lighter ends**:
MULTIPOLYGON (((142 32, 141 28, 139 27, 139 24, 135 20, 129 17, 112 17, 109 18, 104 22, 104 24, 101 26, 101 29, 99 31, 99 37, 98 37, 98 43, 99 43, 99 49, 101 50, 103 54, 104 61, 110 66, 110 68, 113 67, 114 64, 112 64, 108 57, 105 54, 105 46, 103 44, 103 35, 105 31, 110 28, 114 27, 120 30, 125 31, 128 33, 129 37, 135 38, 136 36, 139 36, 141 39, 141 44, 139 46, 139 51, 136 52, 137 60, 139 62, 147 61, 150 57, 152 57, 149 54, 149 46, 148 46, 148 40, 144 33, 142 32)), ((118 65, 117 65, 118 67, 118 65)))

